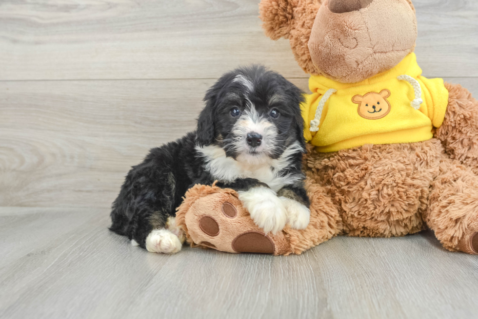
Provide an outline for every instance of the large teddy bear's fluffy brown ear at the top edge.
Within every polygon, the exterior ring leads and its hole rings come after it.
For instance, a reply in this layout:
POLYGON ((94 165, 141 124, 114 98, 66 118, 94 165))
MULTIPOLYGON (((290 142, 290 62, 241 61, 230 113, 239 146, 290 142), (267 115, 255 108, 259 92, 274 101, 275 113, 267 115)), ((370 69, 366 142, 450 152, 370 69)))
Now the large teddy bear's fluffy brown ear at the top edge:
POLYGON ((299 0, 261 0, 260 19, 267 37, 278 40, 289 38, 294 20, 294 8, 299 0))

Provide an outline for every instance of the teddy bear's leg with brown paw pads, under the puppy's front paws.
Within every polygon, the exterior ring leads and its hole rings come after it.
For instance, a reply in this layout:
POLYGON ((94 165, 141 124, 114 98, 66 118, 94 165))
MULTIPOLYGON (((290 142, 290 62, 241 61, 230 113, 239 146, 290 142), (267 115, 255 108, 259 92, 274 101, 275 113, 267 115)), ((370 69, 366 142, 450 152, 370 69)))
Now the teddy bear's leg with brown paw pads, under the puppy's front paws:
POLYGON ((188 190, 176 221, 193 247, 232 253, 300 254, 341 231, 339 212, 324 188, 308 177, 306 189, 311 200, 310 223, 302 230, 286 225, 277 234, 265 234, 254 224, 236 191, 205 185, 188 190))

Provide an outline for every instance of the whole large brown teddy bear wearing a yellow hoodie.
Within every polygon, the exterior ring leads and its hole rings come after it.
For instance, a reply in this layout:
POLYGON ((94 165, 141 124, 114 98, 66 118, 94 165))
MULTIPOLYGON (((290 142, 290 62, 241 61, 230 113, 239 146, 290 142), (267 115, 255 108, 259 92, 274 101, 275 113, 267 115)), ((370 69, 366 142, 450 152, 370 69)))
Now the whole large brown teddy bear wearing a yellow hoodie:
POLYGON ((478 101, 421 75, 411 0, 262 0, 270 38, 288 38, 312 94, 302 106, 311 222, 265 235, 237 194, 196 186, 177 221, 193 246, 290 254, 336 235, 434 230, 478 254, 478 101))

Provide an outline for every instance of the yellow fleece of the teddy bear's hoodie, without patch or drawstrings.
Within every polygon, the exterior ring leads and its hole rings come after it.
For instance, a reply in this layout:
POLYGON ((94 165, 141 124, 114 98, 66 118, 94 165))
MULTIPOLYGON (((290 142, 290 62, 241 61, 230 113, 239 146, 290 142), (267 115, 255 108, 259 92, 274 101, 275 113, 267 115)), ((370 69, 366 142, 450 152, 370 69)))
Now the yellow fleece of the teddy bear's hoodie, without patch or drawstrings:
MULTIPOLYGON (((421 73, 417 57, 411 53, 395 68, 359 83, 340 83, 322 75, 311 76, 309 89, 312 94, 307 96, 301 106, 305 139, 316 146, 319 152, 333 152, 365 144, 414 143, 431 139, 433 127, 441 126, 445 118, 448 91, 443 79, 427 79, 421 73), (414 88, 409 82, 398 80, 400 75, 409 75, 420 84, 423 103, 419 110, 410 104, 416 98, 414 88), (316 115, 322 95, 329 89, 337 92, 325 102, 319 131, 312 132, 310 122, 316 115), (389 113, 376 119, 361 116, 354 96, 376 96, 381 92, 386 95, 384 90, 390 93, 386 97, 389 113)), ((377 110, 382 107, 386 110, 387 105, 382 100, 382 104, 376 107, 377 110)))

